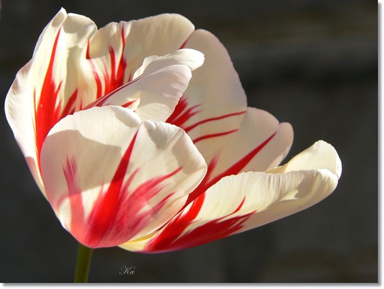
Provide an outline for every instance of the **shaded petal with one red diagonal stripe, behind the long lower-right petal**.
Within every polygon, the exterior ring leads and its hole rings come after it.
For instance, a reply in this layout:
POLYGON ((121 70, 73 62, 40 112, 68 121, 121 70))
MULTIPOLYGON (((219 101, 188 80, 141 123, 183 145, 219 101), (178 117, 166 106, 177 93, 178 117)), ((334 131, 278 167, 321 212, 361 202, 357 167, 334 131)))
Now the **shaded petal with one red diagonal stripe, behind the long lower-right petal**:
POLYGON ((208 172, 200 185, 188 196, 189 204, 221 178, 245 171, 265 171, 276 166, 291 147, 293 130, 271 114, 247 108, 238 131, 225 145, 206 157, 208 172))

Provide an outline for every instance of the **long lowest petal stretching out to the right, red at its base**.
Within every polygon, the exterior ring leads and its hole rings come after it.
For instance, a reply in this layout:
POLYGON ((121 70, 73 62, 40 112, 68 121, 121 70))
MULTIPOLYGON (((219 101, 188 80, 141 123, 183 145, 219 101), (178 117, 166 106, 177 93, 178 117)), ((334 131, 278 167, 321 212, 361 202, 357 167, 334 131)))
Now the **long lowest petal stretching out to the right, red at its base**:
MULTIPOLYGON (((329 145, 329 147, 332 147, 329 145)), ((325 157, 325 168, 279 173, 246 172, 222 178, 166 226, 147 238, 127 242, 122 248, 141 252, 166 252, 214 241, 258 227, 308 208, 336 188, 338 176, 331 172, 338 156, 331 148, 311 157, 296 156, 305 169, 325 157)))

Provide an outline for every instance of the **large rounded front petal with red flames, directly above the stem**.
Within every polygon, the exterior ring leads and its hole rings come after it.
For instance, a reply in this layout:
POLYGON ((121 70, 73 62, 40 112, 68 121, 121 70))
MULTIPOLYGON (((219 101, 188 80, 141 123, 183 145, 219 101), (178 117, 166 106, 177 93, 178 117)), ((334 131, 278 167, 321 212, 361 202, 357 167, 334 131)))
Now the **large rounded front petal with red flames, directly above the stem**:
POLYGON ((96 248, 164 225, 201 181, 206 164, 180 128, 141 123, 131 110, 108 106, 57 123, 44 142, 41 169, 63 227, 96 248))

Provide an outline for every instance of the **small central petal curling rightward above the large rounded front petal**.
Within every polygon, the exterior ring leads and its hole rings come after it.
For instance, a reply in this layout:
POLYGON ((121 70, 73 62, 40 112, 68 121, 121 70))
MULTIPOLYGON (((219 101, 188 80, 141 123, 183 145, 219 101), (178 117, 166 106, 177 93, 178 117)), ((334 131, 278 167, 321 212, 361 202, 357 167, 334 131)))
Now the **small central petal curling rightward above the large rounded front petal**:
POLYGON ((203 62, 204 55, 193 49, 147 57, 133 81, 99 98, 87 108, 117 105, 136 111, 143 121, 165 121, 187 87, 191 70, 203 62))

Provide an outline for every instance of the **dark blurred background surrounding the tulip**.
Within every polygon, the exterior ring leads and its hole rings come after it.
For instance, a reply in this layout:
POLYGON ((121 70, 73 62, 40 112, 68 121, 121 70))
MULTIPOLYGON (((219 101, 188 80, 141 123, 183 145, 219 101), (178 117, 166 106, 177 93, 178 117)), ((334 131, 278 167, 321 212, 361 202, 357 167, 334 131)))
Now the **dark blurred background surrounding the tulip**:
MULTIPOLYGON (((94 251, 90 282, 377 282, 378 9, 373 1, 3 0, 0 98, 60 7, 102 27, 180 13, 227 47, 248 106, 292 124, 289 160, 323 139, 343 174, 303 212, 200 247, 94 251), (121 266, 134 275, 119 275, 121 266)), ((0 110, 0 282, 71 282, 77 242, 37 188, 0 110)))

